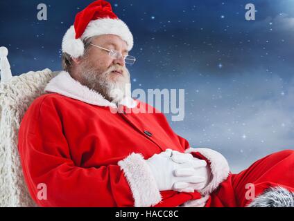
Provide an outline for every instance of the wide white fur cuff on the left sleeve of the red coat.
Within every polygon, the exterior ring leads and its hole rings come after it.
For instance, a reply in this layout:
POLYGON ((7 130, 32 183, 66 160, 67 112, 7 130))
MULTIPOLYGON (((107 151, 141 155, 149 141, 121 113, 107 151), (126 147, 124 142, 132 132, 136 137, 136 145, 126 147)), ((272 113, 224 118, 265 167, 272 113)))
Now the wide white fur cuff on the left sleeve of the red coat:
POLYGON ((135 207, 154 206, 162 200, 155 178, 141 154, 131 153, 118 164, 132 190, 135 207))

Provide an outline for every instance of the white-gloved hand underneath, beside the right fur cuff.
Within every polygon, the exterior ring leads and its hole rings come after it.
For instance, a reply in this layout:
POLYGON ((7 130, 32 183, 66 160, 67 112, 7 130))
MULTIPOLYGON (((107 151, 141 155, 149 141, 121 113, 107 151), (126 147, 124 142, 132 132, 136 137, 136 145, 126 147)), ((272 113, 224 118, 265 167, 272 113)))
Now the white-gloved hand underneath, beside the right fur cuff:
MULTIPOLYGON (((193 155, 191 155, 191 153, 180 153, 178 151, 172 151, 172 155, 171 155, 171 159, 173 160, 173 162, 182 164, 185 162, 189 162, 189 160, 194 162, 194 165, 197 165, 197 162, 199 164, 198 167, 194 166, 194 175, 198 175, 199 177, 204 177, 205 180, 204 182, 198 183, 198 184, 194 184, 194 183, 183 183, 182 184, 182 190, 181 192, 194 192, 194 191, 199 191, 203 188, 205 188, 205 186, 207 186, 207 184, 209 184, 210 180, 211 180, 211 170, 209 168, 209 165, 207 165, 207 163, 205 162, 205 160, 200 160, 196 157, 193 157, 193 155)), ((182 171, 182 173, 184 173, 184 171, 182 171)), ((181 176, 178 175, 177 173, 175 174, 176 176, 181 176)))

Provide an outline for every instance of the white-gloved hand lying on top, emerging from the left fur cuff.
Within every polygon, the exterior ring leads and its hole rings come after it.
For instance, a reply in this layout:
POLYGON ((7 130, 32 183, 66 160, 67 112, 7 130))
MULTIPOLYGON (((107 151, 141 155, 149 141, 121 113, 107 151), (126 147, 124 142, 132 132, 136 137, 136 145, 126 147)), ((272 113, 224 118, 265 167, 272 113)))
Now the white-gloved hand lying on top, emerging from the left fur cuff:
POLYGON ((205 182, 205 177, 196 175, 194 168, 205 167, 205 160, 196 161, 190 158, 181 163, 174 162, 171 159, 173 151, 166 151, 155 154, 146 160, 151 172, 157 183, 159 191, 175 190, 182 191, 187 189, 187 184, 202 184, 205 182))

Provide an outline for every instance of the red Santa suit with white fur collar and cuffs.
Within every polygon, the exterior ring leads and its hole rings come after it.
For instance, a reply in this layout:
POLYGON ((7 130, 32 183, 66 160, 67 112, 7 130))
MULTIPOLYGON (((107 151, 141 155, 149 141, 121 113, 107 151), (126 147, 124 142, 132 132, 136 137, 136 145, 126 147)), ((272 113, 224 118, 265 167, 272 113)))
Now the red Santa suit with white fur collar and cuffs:
POLYGON ((19 129, 24 177, 40 206, 246 206, 246 182, 257 184, 256 193, 278 185, 293 191, 293 151, 233 175, 223 155, 191 148, 144 102, 126 97, 116 106, 64 71, 45 90, 19 129), (205 189, 158 190, 145 160, 166 148, 207 161, 212 178, 205 189), (38 184, 46 184, 45 200, 38 184))

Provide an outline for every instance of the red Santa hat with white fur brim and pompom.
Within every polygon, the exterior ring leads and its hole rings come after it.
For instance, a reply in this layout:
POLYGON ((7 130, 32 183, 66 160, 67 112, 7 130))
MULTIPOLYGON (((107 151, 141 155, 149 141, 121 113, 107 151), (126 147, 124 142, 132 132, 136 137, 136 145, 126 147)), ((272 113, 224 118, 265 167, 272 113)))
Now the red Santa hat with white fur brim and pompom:
POLYGON ((94 1, 76 15, 74 26, 67 30, 62 39, 62 52, 74 58, 80 57, 85 50, 84 39, 105 34, 118 35, 126 41, 128 50, 132 49, 134 40, 126 23, 112 12, 110 3, 94 1))

